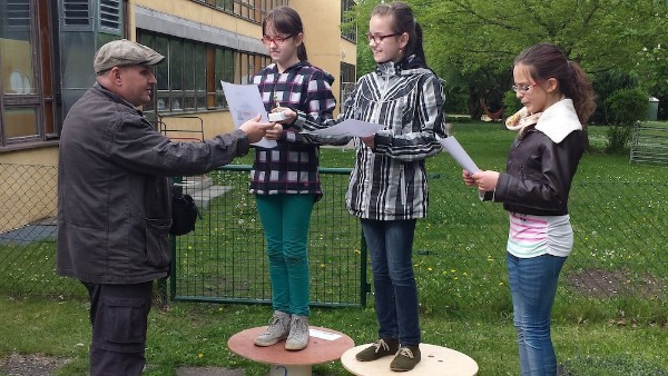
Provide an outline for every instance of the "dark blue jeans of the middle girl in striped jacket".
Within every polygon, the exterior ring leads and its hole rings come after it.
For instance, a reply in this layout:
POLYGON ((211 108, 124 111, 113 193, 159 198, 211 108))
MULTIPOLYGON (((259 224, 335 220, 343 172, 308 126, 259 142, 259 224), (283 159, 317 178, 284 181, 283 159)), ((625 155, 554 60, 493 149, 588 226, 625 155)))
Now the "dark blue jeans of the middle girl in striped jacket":
POLYGON ((362 219, 373 273, 379 337, 420 345, 418 286, 413 275, 415 219, 362 219))

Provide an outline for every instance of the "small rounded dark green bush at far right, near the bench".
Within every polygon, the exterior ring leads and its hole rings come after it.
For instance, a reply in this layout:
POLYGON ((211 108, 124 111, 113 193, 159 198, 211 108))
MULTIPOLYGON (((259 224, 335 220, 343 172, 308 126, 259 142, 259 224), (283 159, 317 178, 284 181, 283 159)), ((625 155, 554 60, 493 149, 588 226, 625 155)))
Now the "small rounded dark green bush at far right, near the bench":
POLYGON ((606 99, 610 129, 606 151, 623 152, 636 121, 642 120, 647 113, 649 95, 639 89, 621 89, 606 99))

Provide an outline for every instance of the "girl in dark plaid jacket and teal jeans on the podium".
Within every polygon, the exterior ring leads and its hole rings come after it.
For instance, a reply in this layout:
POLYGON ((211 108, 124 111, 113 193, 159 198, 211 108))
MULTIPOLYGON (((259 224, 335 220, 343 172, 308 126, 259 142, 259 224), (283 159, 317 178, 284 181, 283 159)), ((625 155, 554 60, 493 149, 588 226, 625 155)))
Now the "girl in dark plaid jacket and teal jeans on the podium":
MULTIPOLYGON (((275 8, 262 30, 274 62, 253 82, 259 87, 266 110, 293 108, 316 121, 331 119, 336 106, 330 87, 334 77, 306 61, 299 14, 288 7, 275 8)), ((286 349, 301 350, 308 344, 306 243, 313 205, 322 197, 320 151, 312 139, 279 123, 266 138, 278 146, 255 149, 250 192, 256 195, 267 243, 274 315, 255 344, 271 346, 286 339, 286 349)))

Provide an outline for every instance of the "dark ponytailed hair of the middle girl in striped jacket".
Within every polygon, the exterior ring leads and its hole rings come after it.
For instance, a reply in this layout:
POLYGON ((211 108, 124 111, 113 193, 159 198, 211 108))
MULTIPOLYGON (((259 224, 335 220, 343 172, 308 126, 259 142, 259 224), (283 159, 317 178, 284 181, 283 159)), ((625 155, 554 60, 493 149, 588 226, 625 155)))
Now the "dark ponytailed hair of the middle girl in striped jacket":
POLYGON ((426 65, 424 48, 422 47, 422 27, 415 22, 413 10, 404 2, 395 1, 391 4, 377 4, 371 16, 391 16, 392 29, 395 33, 407 33, 406 56, 415 55, 426 65))

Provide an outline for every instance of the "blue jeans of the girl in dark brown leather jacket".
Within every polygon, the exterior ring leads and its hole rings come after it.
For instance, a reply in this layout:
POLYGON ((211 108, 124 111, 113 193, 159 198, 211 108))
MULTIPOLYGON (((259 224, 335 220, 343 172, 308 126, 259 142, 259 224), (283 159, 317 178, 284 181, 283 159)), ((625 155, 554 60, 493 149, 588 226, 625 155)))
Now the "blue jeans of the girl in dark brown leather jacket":
POLYGON ((518 258, 508 254, 507 261, 521 375, 554 376, 557 356, 550 336, 550 319, 566 257, 518 258))

